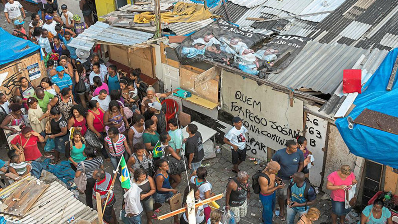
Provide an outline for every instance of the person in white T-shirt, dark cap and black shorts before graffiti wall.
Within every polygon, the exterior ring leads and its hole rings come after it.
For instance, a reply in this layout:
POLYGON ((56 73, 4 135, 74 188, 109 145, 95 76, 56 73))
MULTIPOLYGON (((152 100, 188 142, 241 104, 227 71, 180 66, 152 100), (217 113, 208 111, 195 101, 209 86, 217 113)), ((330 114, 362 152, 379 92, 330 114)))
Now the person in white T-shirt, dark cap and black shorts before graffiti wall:
POLYGON ((232 118, 232 127, 224 136, 224 143, 231 146, 232 151, 232 172, 238 173, 238 165, 246 160, 246 132, 248 130, 242 125, 240 117, 232 118))

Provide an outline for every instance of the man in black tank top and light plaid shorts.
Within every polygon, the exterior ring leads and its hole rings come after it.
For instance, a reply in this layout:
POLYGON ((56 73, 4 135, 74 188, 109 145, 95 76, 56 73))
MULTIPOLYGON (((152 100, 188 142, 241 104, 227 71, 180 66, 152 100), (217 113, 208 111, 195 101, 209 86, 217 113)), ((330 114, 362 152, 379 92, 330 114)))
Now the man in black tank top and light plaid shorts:
POLYGON ((239 224, 240 217, 248 212, 247 199, 250 198, 249 175, 246 171, 239 171, 238 175, 228 182, 225 195, 225 210, 231 210, 239 224))

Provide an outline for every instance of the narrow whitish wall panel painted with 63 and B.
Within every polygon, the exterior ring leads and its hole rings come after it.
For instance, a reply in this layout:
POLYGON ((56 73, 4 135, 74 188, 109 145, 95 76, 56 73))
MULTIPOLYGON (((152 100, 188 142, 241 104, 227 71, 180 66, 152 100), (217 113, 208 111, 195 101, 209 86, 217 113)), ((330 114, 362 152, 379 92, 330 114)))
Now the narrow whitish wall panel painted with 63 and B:
POLYGON ((314 166, 310 168, 310 181, 313 185, 319 187, 322 182, 322 167, 324 162, 324 151, 326 140, 326 131, 328 122, 312 114, 306 114, 306 132, 307 149, 314 156, 314 166))

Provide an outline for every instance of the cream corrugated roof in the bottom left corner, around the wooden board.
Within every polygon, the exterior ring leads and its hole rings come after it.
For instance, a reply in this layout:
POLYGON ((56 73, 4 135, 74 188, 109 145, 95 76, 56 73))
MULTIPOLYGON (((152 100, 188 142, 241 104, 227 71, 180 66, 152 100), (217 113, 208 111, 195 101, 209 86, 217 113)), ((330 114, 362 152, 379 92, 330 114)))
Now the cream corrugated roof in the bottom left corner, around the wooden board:
MULTIPOLYGON (((0 195, 6 195, 8 193, 18 191, 20 186, 24 184, 24 180, 39 181, 35 177, 25 177, 23 180, 20 180, 3 189, 0 192, 0 195)), ((42 181, 39 182, 44 184, 42 181)), ((92 222, 97 218, 97 212, 74 198, 71 191, 68 191, 68 189, 55 181, 50 184, 50 187, 48 187, 39 197, 39 199, 33 204, 25 217, 19 218, 4 214, 2 214, 2 216, 6 218, 7 223, 60 224, 66 223, 66 220, 72 216, 75 217, 73 223, 76 223, 76 221, 82 219, 92 222), (46 204, 46 202, 48 203, 46 204), (64 210, 64 212, 59 212, 60 210, 64 210)))

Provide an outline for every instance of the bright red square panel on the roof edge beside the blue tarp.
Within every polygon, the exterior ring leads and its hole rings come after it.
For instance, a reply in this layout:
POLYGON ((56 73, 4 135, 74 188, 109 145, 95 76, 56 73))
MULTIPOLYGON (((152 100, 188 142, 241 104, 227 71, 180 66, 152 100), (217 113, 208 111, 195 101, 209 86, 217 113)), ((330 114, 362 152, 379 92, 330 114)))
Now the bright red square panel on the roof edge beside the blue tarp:
POLYGON ((362 71, 361 69, 344 69, 343 71, 343 93, 362 93, 362 71))

